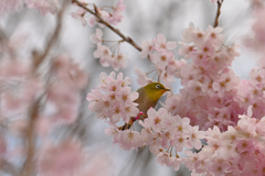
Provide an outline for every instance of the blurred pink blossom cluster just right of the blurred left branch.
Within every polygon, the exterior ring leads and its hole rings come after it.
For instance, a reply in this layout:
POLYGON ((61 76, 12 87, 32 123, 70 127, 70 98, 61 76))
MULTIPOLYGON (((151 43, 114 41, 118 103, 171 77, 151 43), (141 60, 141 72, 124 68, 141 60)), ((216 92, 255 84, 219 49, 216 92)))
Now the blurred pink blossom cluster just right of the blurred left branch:
POLYGON ((53 108, 54 111, 49 114, 56 119, 55 122, 71 124, 77 118, 80 92, 86 87, 87 74, 66 54, 54 59, 52 72, 54 77, 47 88, 46 102, 47 108, 53 108))

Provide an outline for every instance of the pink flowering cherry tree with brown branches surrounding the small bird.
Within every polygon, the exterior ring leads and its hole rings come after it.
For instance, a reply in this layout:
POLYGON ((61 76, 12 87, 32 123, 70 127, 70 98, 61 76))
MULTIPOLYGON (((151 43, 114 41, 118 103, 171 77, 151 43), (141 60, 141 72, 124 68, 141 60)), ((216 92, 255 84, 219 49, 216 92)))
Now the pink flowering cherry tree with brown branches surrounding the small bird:
POLYGON ((264 175, 264 2, 250 0, 252 35, 244 37, 242 45, 257 54, 258 67, 251 70, 250 79, 243 79, 231 67, 240 56, 239 45, 226 44, 224 29, 219 26, 224 0, 210 1, 216 4, 213 25, 200 29, 190 22, 189 26, 182 26, 180 41, 159 33, 139 44, 118 29, 126 21, 124 0, 110 7, 88 0, 0 2, 2 15, 25 7, 39 11, 43 18, 55 18, 54 30, 46 36, 44 46, 31 46, 25 55, 21 54, 26 46, 25 38, 0 30, 2 173, 106 175, 105 170, 112 167, 110 156, 105 155, 103 160, 88 154, 82 141, 82 119, 87 119, 82 108, 87 100, 89 112, 105 121, 106 135, 120 150, 146 147, 158 164, 174 170, 184 164, 192 175, 264 175), (85 38, 95 46, 93 59, 113 70, 100 73, 99 84, 91 90, 87 90, 91 73, 67 52, 54 52, 65 14, 94 30, 85 38), (106 30, 119 40, 107 38, 106 30), (135 68, 139 87, 159 81, 171 89, 160 108, 151 107, 147 118, 138 120, 139 130, 119 128, 131 117, 141 114, 135 102, 139 95, 130 87, 132 78, 123 73, 131 62, 120 47, 125 43, 155 68, 151 70, 155 77, 135 68), (181 81, 178 94, 173 94, 176 79, 181 81))

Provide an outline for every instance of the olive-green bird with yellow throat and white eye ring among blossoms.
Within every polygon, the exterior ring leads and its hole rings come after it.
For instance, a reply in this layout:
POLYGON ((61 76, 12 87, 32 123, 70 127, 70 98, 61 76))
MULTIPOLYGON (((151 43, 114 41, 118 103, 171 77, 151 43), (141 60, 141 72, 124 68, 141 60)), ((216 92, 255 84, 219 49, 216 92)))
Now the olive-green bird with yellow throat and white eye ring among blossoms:
POLYGON ((139 114, 137 117, 130 117, 128 123, 119 127, 119 130, 121 131, 130 129, 130 127, 136 120, 144 120, 145 118, 147 118, 147 111, 149 110, 149 108, 155 108, 158 99, 166 91, 170 91, 170 89, 165 88, 165 86, 160 82, 150 82, 136 91, 139 94, 139 97, 134 102, 138 103, 137 108, 139 109, 139 114))

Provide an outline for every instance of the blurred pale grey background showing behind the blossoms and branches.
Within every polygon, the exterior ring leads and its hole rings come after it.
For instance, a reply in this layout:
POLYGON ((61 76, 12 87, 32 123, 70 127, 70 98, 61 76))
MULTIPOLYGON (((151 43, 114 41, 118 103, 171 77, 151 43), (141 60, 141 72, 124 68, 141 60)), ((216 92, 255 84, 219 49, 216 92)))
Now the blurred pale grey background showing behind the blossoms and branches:
MULTIPOLYGON (((104 7, 115 6, 117 0, 91 0, 87 2, 104 7)), ((62 4, 61 1, 60 3, 62 4)), ((188 28, 190 22, 193 22, 200 29, 206 30, 208 25, 213 25, 218 8, 216 4, 211 3, 209 0, 125 0, 124 3, 126 4, 125 18, 117 28, 137 44, 140 44, 144 40, 156 37, 159 33, 162 33, 168 41, 179 42, 181 31, 188 28)), ((224 0, 219 26, 224 28, 225 44, 235 43, 242 45, 242 40, 246 34, 250 34, 251 8, 248 0, 224 0)), ((184 166, 176 172, 173 168, 157 164, 156 158, 146 147, 139 148, 138 152, 119 148, 118 145, 113 144, 112 138, 105 134, 108 124, 103 120, 98 120, 96 114, 87 109, 86 95, 99 84, 99 74, 103 72, 109 74, 113 69, 103 67, 98 59, 94 58, 93 53, 96 46, 92 44, 89 37, 95 33, 95 28, 83 26, 81 21, 73 19, 70 12, 75 10, 76 8, 73 6, 66 8, 59 40, 51 48, 47 57, 53 58, 67 53, 74 59, 74 63, 85 70, 88 81, 87 86, 81 91, 76 120, 70 124, 56 125, 56 129, 52 132, 53 140, 67 138, 70 134, 78 139, 84 144, 85 152, 89 156, 87 158, 87 170, 91 175, 190 175, 190 172, 184 166)), ((0 19, 1 34, 18 48, 17 57, 23 62, 29 62, 33 51, 43 51, 56 25, 55 15, 49 13, 42 16, 38 10, 28 9, 24 6, 1 14, 0 19)), ((104 28, 103 31, 103 38, 120 40, 107 28, 104 28)), ((134 68, 138 67, 144 72, 150 72, 153 67, 149 61, 140 58, 139 52, 129 44, 123 43, 120 51, 129 58, 127 67, 120 72, 131 78, 132 84, 130 86, 132 90, 136 90, 139 86, 136 81, 137 76, 134 68)), ((181 57, 177 54, 178 50, 174 53, 176 59, 180 59, 181 57)), ((250 70, 256 65, 257 56, 246 51, 244 46, 240 47, 240 53, 241 56, 233 63, 233 68, 237 76, 247 79, 250 70)), ((45 73, 45 68, 43 66, 41 72, 45 73)), ((172 84, 174 94, 178 92, 179 82, 179 80, 176 80, 172 84)), ((23 143, 14 134, 4 136, 8 147, 23 143)), ((4 157, 8 157, 8 155, 4 157)), ((20 167, 20 161, 15 161, 13 157, 12 162, 20 167)), ((6 173, 6 175, 9 174, 6 173)))

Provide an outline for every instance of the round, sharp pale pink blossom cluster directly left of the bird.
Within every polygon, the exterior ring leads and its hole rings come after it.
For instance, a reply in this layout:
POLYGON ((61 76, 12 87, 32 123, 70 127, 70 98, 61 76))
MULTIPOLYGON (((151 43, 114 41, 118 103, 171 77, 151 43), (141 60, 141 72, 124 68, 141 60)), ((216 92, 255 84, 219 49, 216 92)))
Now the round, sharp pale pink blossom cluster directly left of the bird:
POLYGON ((87 95, 91 102, 88 108, 97 112, 99 119, 108 119, 112 124, 116 124, 123 119, 129 122, 130 117, 136 117, 139 110, 138 105, 134 102, 138 98, 138 92, 131 92, 128 85, 131 80, 113 72, 109 76, 105 73, 100 74, 100 84, 87 95))

